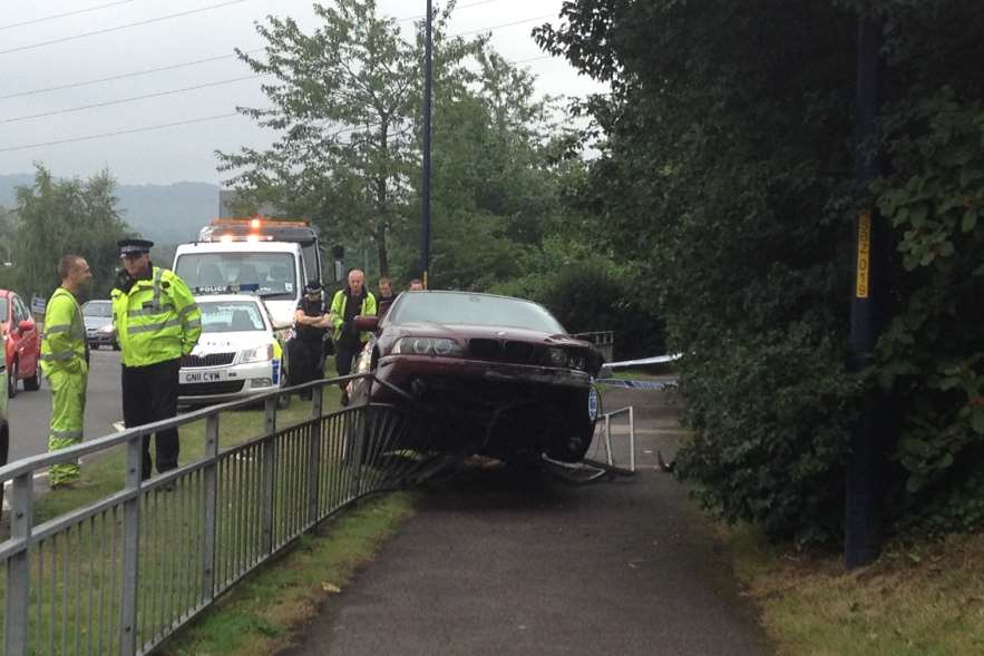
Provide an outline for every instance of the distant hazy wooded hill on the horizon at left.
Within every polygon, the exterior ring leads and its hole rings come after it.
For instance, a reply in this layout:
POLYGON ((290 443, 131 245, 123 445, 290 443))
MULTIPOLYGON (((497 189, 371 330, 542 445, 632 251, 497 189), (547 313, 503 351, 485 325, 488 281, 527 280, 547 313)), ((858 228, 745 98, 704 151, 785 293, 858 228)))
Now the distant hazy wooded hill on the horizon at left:
MULTIPOLYGON (((16 205, 14 188, 31 185, 32 174, 0 175, 0 205, 16 205)), ((123 218, 134 231, 158 244, 194 239, 198 228, 218 216, 217 185, 119 185, 116 195, 123 218)))

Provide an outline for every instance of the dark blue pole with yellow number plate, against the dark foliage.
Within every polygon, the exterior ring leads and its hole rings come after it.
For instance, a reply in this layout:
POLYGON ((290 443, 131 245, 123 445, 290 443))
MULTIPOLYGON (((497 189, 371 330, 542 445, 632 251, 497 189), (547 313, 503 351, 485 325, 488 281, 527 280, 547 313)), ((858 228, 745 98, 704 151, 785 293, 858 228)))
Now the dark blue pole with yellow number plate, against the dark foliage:
MULTIPOLYGON (((855 179, 863 195, 878 175, 871 137, 881 97, 883 26, 871 17, 858 19, 855 179)), ((851 365, 860 371, 886 321, 888 234, 870 199, 858 210, 855 239, 855 287, 850 306, 851 365)), ((865 392, 861 417, 851 438, 845 499, 844 560, 848 569, 873 562, 881 548, 883 502, 887 480, 890 413, 876 389, 865 392)))

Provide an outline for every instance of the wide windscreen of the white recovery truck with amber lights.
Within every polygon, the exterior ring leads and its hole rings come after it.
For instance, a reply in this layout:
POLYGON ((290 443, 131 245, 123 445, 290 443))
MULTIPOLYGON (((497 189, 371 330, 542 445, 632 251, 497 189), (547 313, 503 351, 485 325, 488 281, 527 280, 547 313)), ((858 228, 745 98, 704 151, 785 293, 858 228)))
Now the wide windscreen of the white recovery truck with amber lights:
POLYGON ((196 293, 237 286, 264 298, 295 298, 301 287, 290 253, 185 253, 174 273, 196 293))

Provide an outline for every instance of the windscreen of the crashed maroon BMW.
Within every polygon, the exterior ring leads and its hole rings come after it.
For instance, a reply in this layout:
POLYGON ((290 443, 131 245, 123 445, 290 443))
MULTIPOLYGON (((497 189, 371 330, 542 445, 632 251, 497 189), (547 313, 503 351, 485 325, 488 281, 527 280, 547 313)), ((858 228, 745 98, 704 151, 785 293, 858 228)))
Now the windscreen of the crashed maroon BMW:
POLYGON ((448 292, 407 292, 387 316, 389 323, 435 322, 522 327, 551 335, 566 333, 544 307, 529 301, 448 292))

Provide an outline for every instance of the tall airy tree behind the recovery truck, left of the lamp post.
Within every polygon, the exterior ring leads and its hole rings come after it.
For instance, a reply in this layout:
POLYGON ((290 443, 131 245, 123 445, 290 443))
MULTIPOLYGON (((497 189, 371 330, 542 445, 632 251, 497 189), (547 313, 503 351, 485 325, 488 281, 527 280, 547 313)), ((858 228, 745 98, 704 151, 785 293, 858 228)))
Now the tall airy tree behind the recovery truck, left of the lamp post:
POLYGON ((236 50, 263 85, 270 109, 240 108, 280 133, 263 151, 220 153, 221 170, 244 193, 288 213, 309 214, 329 238, 367 231, 381 273, 388 234, 410 189, 412 118, 419 74, 413 48, 374 0, 315 4, 324 21, 312 35, 291 19, 256 30, 265 61, 236 50))

